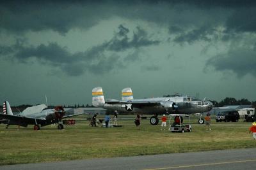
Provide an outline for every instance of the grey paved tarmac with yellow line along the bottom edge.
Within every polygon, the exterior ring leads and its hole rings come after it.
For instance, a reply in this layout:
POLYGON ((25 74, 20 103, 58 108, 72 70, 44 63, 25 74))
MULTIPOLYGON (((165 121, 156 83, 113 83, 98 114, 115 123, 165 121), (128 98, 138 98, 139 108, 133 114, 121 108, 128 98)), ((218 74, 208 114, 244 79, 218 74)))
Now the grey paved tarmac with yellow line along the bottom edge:
POLYGON ((18 164, 0 169, 256 169, 256 148, 18 164))

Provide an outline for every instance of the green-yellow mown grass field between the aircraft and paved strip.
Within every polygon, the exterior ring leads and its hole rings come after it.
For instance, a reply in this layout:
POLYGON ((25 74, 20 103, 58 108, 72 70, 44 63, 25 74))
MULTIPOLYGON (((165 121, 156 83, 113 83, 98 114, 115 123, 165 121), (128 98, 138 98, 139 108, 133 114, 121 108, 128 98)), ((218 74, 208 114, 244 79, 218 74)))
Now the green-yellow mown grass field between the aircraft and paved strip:
POLYGON ((216 123, 213 119, 212 131, 206 131, 196 119, 191 122, 193 132, 183 134, 160 131, 160 125, 150 125, 149 120, 141 120, 137 129, 132 119, 119 120, 123 127, 108 129, 77 121, 62 131, 51 125, 33 131, 33 125, 5 129, 1 124, 0 165, 256 147, 248 134, 251 123, 216 123))

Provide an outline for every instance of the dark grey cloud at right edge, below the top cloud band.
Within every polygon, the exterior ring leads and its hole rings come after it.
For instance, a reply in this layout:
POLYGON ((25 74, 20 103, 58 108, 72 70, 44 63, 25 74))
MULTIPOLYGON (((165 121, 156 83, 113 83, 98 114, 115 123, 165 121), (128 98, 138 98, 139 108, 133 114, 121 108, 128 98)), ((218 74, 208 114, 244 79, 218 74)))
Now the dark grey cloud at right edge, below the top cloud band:
POLYGON ((246 74, 256 77, 256 49, 246 46, 233 48, 207 60, 206 66, 212 66, 216 71, 233 71, 239 77, 246 74))

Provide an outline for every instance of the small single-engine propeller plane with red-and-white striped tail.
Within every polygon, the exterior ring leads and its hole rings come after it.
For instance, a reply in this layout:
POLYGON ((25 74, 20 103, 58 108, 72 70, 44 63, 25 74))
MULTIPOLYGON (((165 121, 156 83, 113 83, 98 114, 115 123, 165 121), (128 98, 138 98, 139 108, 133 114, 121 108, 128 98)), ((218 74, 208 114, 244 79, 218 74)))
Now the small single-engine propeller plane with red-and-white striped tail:
POLYGON ((47 108, 45 104, 40 104, 26 108, 26 110, 18 115, 13 115, 10 104, 8 101, 5 101, 3 103, 3 114, 0 114, 0 118, 4 120, 3 123, 6 124, 6 128, 8 128, 8 125, 19 125, 22 127, 34 125, 34 130, 36 131, 40 127, 55 123, 58 123, 58 129, 64 129, 61 119, 82 114, 67 113, 61 106, 47 108))

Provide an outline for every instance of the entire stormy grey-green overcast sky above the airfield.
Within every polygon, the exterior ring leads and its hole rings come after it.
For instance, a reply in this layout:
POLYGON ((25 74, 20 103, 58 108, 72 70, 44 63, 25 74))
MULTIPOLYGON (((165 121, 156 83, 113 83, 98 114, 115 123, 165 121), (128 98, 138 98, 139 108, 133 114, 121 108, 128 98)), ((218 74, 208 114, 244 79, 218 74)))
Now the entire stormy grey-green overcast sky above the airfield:
POLYGON ((0 101, 256 100, 256 1, 1 1, 0 101))

